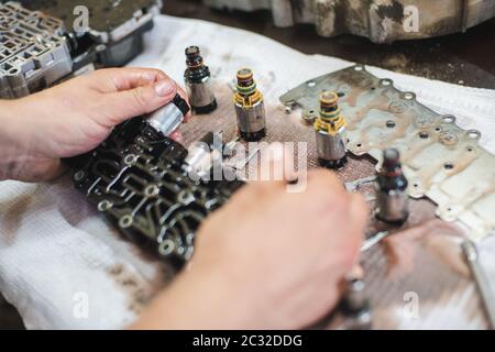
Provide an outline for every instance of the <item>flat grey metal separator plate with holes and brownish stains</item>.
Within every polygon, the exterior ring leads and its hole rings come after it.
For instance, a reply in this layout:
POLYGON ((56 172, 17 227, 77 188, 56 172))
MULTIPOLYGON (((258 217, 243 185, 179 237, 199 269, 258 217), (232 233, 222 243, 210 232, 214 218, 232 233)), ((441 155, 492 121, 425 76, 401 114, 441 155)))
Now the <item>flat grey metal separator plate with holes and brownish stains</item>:
POLYGON ((479 145, 481 133, 463 130, 455 117, 441 116, 356 65, 308 80, 280 97, 299 106, 311 122, 319 95, 337 91, 348 127, 348 148, 381 162, 382 151, 400 151, 413 198, 428 197, 437 216, 460 221, 479 240, 495 230, 495 156, 479 145))

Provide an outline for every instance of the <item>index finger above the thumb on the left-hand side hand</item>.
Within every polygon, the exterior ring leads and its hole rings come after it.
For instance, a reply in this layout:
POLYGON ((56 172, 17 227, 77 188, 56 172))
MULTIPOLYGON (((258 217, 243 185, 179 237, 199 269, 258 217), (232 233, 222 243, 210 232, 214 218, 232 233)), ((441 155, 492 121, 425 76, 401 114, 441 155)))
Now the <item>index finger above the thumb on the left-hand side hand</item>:
POLYGON ((92 85, 102 92, 117 92, 169 79, 155 68, 108 68, 89 75, 92 85))

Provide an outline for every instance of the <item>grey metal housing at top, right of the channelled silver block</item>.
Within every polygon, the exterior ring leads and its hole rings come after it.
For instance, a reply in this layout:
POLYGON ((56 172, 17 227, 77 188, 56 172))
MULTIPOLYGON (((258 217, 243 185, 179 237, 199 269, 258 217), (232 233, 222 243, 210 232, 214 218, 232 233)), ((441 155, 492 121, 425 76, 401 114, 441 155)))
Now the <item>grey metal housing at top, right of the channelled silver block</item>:
POLYGON ((65 22, 75 69, 97 63, 123 66, 143 50, 143 33, 153 26, 162 0, 21 0, 30 10, 42 11, 65 22), (89 21, 81 26, 87 10, 89 21), (81 26, 81 28, 79 28, 81 26))

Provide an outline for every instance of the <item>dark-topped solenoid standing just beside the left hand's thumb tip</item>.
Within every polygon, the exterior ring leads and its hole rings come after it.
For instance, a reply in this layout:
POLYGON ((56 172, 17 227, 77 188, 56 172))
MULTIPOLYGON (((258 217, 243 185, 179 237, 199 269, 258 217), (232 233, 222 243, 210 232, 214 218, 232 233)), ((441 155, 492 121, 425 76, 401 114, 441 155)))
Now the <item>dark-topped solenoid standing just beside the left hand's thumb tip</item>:
POLYGON ((193 111, 198 114, 212 112, 217 109, 213 84, 198 46, 186 48, 186 65, 184 79, 193 111))

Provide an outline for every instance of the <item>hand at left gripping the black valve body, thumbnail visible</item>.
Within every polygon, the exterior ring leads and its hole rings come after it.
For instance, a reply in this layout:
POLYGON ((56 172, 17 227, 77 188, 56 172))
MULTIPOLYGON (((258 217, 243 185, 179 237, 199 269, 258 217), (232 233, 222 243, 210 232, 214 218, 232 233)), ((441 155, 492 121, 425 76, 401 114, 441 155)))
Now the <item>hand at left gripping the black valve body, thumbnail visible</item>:
POLYGON ((0 179, 53 179, 63 170, 61 158, 95 148, 113 127, 161 108, 177 92, 186 98, 158 69, 111 68, 1 101, 0 179))

